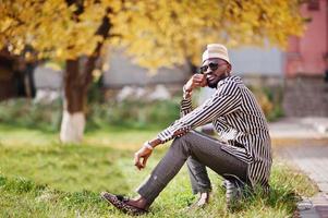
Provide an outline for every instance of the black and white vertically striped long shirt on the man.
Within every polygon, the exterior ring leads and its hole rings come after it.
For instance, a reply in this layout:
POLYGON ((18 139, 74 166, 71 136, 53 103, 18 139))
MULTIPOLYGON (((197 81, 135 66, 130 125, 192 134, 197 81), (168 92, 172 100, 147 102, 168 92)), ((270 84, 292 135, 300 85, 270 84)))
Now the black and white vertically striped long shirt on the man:
POLYGON ((175 132, 189 131, 212 122, 219 140, 226 141, 222 149, 248 164, 248 179, 269 189, 271 142, 265 116, 252 92, 239 76, 219 82, 216 93, 204 104, 192 109, 191 99, 181 101, 181 118, 158 134, 165 143, 175 132), (235 143, 243 145, 235 146, 235 143))

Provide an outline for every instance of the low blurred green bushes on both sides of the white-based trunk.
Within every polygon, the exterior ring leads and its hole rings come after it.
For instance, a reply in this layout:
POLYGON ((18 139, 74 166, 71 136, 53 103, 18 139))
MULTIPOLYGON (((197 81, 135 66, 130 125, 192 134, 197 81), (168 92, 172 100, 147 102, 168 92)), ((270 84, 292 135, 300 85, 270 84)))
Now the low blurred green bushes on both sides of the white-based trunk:
MULTIPOLYGON (((179 118, 179 100, 89 104, 86 113, 86 131, 102 126, 165 128, 179 118)), ((0 122, 8 125, 37 129, 46 132, 60 130, 62 102, 34 102, 28 99, 11 99, 0 102, 0 122)))

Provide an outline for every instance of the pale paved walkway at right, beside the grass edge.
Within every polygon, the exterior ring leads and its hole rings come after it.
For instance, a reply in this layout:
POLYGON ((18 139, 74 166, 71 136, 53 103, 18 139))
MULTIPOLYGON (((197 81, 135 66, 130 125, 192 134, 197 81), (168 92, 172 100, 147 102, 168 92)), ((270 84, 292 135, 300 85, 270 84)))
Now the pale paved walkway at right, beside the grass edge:
POLYGON ((294 217, 328 218, 328 118, 283 119, 270 123, 274 148, 304 171, 319 193, 304 198, 294 217))

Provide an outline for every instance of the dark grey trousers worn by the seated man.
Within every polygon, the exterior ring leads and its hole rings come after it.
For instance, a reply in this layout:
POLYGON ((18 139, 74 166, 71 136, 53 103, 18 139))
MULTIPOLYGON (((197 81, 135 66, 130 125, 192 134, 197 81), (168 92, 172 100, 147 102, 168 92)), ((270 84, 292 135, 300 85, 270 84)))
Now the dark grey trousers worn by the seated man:
POLYGON ((187 162, 194 193, 211 189, 206 166, 223 178, 234 175, 247 182, 247 164, 226 153, 221 146, 219 141, 195 131, 177 137, 137 193, 151 204, 184 162, 187 162))

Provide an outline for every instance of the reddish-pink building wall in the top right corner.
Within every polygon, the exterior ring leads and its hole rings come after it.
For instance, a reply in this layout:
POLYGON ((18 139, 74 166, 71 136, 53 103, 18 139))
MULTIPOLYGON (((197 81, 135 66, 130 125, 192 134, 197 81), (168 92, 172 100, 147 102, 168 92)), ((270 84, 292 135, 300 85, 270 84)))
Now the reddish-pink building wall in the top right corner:
POLYGON ((311 0, 301 8, 308 21, 302 37, 291 37, 286 53, 286 76, 323 76, 328 68, 328 1, 311 0))

